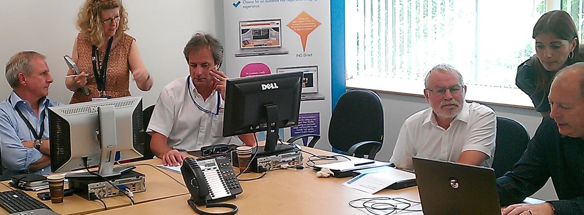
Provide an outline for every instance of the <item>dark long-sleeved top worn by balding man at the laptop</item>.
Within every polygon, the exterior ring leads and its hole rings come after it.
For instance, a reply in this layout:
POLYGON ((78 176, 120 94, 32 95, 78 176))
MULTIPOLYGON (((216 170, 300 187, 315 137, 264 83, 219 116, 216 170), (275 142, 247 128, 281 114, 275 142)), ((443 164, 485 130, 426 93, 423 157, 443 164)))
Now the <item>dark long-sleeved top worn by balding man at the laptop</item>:
POLYGON ((555 214, 584 214, 584 140, 562 136, 554 119, 544 118, 513 170, 497 179, 500 204, 521 203, 550 177, 555 214))

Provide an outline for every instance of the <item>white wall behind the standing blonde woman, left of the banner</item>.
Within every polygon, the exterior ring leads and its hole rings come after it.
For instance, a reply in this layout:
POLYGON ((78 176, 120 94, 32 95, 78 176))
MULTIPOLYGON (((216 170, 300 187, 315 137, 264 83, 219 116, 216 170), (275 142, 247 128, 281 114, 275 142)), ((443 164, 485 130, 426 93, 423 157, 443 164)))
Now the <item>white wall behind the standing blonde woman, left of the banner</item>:
MULTIPOLYGON (((65 88, 67 65, 62 56, 71 51, 78 30, 77 13, 84 1, 0 1, 0 65, 22 50, 36 50, 47 56, 54 78, 49 98, 68 103, 72 92, 65 88)), ((158 99, 162 88, 173 79, 188 75, 182 50, 196 30, 211 33, 223 41, 223 2, 124 0, 128 12, 128 34, 136 38, 142 60, 154 78, 154 86, 141 92, 130 84, 134 96, 144 96, 144 108, 158 99)), ((222 68, 224 70, 224 68, 222 68)), ((0 78, 0 100, 12 89, 0 78)))

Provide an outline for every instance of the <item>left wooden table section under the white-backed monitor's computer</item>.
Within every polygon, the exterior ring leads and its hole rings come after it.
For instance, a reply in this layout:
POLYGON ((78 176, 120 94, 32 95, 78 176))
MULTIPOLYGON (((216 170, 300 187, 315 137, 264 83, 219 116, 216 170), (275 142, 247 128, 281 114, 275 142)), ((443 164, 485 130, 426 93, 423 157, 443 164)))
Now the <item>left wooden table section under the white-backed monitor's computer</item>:
MULTIPOLYGON (((157 170, 160 168, 155 169, 154 167, 144 165, 144 164, 151 165, 162 164, 161 159, 150 159, 147 161, 134 162, 133 164, 137 165, 134 171, 146 175, 145 176, 146 191, 134 193, 134 202, 136 204, 150 202, 158 199, 165 199, 173 196, 185 195, 189 193, 186 187, 183 186, 184 182, 182 179, 182 175, 176 172, 171 172, 162 169, 162 171, 171 175, 173 178, 178 179, 179 182, 181 182, 181 184, 179 184, 170 179, 167 175, 164 175, 162 172, 157 170)), ((1 184, 2 185, 0 186, 0 188, 7 187, 8 181, 1 182, 1 184)), ((67 186, 67 184, 65 184, 65 186, 67 186)), ((2 191, 2 189, 0 189, 0 191, 2 191)), ((42 192, 47 191, 48 189, 43 190, 42 192)), ((38 199, 36 195, 37 192, 27 191, 26 193, 38 199)), ((102 200, 103 202, 105 202, 107 210, 114 209, 117 207, 130 206, 131 204, 130 200, 126 196, 109 197, 102 200)), ((41 202, 47 204, 47 206, 51 207, 51 209, 60 214, 87 214, 104 210, 103 204, 99 202, 99 200, 88 201, 78 195, 64 197, 63 203, 60 204, 53 204, 51 203, 50 200, 41 202)), ((0 214, 8 214, 8 212, 0 209, 0 214)))

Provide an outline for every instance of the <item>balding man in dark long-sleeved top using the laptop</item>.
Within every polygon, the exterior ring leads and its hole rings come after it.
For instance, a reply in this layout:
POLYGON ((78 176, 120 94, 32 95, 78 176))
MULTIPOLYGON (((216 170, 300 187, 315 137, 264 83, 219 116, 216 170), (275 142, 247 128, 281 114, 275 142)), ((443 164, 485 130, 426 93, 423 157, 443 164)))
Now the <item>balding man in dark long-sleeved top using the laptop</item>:
POLYGON ((502 214, 584 214, 584 63, 559 71, 544 119, 513 170, 497 179, 502 214), (516 204, 551 177, 559 200, 516 204))

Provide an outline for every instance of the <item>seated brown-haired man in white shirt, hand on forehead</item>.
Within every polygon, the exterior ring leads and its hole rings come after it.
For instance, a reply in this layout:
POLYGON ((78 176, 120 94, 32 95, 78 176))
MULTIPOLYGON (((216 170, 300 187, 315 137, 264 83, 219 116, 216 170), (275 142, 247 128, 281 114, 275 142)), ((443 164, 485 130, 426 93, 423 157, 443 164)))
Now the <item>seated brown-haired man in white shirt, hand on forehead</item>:
MULTIPOLYGON (((147 130, 152 134, 152 152, 171 166, 182 165, 187 151, 231 141, 231 137, 223 137, 227 76, 218 70, 223 45, 209 34, 196 33, 183 54, 190 75, 162 89, 147 130)), ((253 134, 238 137, 246 145, 255 145, 253 134)))

